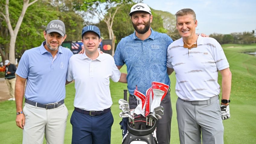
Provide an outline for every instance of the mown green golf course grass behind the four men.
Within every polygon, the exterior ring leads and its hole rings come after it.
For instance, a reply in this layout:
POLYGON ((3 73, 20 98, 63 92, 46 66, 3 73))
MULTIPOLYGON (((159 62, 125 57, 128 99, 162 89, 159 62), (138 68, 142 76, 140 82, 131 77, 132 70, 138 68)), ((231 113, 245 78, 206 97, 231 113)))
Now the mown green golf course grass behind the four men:
MULTIPOLYGON (((226 44, 222 46, 227 59, 229 61, 230 70, 232 72, 232 90, 230 113, 231 118, 223 121, 224 125, 224 143, 240 144, 240 143, 256 143, 256 57, 242 52, 256 51, 256 44, 237 45, 226 44), (234 47, 231 47, 234 46, 234 47)), ((121 69, 126 72, 126 67, 121 69)), ((173 109, 173 117, 171 123, 171 143, 179 143, 178 125, 176 120, 175 103, 177 95, 175 94, 175 76, 171 78, 171 103, 173 109)), ((219 75, 219 84, 221 77, 219 75)), ((111 96, 113 100, 112 114, 114 116, 114 124, 112 126, 111 143, 119 144, 122 141, 119 122, 121 118, 118 116, 120 110, 118 108, 118 100, 123 98, 123 89, 126 84, 110 82, 111 96)), ((65 144, 71 143, 72 126, 69 122, 73 111, 73 100, 75 96, 74 83, 66 86, 65 104, 69 110, 67 120, 67 128, 65 135, 65 144)), ((221 95, 221 94, 220 94, 221 95)), ((22 130, 16 126, 16 110, 13 101, 4 101, 0 103, 0 136, 1 143, 17 144, 22 141, 22 130)), ((44 141, 44 143, 46 143, 44 141)))

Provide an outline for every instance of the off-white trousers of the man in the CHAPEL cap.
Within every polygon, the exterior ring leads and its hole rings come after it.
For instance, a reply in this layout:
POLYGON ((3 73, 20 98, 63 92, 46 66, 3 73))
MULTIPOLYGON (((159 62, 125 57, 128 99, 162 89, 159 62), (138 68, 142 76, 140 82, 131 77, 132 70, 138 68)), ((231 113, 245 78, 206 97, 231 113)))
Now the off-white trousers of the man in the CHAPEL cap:
POLYGON ((66 122, 69 115, 65 104, 47 110, 27 103, 24 105, 23 144, 42 144, 44 134, 47 144, 64 143, 66 122))

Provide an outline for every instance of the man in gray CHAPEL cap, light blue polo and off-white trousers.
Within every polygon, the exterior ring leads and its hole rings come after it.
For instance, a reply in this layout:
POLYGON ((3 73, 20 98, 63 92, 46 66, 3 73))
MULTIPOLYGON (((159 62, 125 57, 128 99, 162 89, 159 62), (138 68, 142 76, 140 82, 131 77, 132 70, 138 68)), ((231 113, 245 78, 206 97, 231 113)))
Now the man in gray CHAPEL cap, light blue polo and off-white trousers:
POLYGON ((67 37, 62 21, 50 21, 43 35, 45 41, 24 52, 16 71, 16 125, 23 129, 23 143, 43 143, 45 134, 46 143, 63 144, 68 116, 65 83, 73 53, 60 46, 67 37))

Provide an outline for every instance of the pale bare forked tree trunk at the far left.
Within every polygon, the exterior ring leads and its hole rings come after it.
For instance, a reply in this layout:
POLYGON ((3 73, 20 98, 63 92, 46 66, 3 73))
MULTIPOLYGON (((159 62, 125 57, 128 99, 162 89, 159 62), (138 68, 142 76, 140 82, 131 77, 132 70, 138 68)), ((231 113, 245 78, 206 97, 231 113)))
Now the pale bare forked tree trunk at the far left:
POLYGON ((15 24, 15 28, 13 29, 13 25, 11 25, 10 15, 9 15, 9 0, 6 0, 5 2, 5 13, 0 11, 0 14, 4 17, 4 20, 7 24, 8 31, 10 34, 10 44, 9 44, 9 60, 11 63, 15 63, 15 43, 16 38, 21 26, 21 23, 23 21, 24 15, 26 13, 27 8, 37 2, 38 0, 34 0, 29 3, 29 0, 23 0, 23 8, 21 11, 21 14, 18 18, 17 23, 15 24))

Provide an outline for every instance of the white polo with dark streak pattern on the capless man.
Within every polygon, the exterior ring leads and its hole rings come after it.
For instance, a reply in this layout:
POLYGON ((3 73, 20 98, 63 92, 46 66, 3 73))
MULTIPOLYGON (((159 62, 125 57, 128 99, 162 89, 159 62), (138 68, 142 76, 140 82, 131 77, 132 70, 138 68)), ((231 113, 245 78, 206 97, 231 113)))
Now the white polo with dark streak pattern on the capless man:
POLYGON ((211 37, 197 39, 197 47, 183 47, 183 39, 171 43, 167 49, 167 67, 176 75, 176 94, 186 101, 207 100, 220 92, 218 70, 229 63, 220 44, 211 37))

